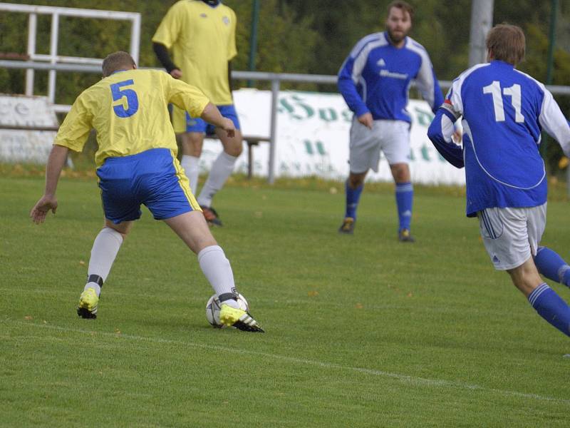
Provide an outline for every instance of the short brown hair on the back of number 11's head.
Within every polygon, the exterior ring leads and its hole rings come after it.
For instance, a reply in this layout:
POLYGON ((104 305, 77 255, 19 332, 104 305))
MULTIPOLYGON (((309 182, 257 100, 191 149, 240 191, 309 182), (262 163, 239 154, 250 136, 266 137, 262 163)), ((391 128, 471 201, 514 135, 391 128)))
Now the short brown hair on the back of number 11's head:
POLYGON ((499 24, 487 34, 487 51, 492 52, 493 59, 516 66, 524 59, 526 41, 519 26, 499 24))

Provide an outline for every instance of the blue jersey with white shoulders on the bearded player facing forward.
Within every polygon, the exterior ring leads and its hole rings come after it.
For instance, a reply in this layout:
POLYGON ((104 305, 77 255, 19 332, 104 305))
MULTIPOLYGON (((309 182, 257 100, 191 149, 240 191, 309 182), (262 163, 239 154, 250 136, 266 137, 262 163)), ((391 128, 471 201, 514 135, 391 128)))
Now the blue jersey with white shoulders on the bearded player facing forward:
POLYGON ((385 32, 370 34, 354 46, 338 71, 338 90, 355 115, 410 123, 408 92, 416 82, 432 111, 443 101, 427 51, 410 37, 401 49, 385 32))

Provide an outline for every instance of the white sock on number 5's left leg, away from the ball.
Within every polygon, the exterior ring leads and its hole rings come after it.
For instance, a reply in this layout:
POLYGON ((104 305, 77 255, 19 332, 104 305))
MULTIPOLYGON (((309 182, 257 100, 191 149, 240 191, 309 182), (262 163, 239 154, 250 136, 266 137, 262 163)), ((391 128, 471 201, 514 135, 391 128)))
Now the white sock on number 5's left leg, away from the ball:
MULTIPOLYGON (((109 275, 111 266, 113 266, 122 243, 123 236, 115 229, 103 228, 95 238, 95 242, 93 242, 87 276, 100 276, 104 282, 109 275)), ((85 290, 89 287, 93 287, 97 295, 100 294, 101 287, 97 282, 88 282, 85 290)))

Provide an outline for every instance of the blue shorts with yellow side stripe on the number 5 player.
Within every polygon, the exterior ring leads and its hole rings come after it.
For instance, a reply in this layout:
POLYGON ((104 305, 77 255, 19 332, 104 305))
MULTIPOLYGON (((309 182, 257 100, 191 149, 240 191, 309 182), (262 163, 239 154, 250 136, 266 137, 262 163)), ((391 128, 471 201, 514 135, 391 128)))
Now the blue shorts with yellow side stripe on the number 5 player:
POLYGON ((106 158, 97 176, 105 218, 115 224, 140 218, 141 204, 156 220, 200 210, 184 170, 167 148, 106 158))

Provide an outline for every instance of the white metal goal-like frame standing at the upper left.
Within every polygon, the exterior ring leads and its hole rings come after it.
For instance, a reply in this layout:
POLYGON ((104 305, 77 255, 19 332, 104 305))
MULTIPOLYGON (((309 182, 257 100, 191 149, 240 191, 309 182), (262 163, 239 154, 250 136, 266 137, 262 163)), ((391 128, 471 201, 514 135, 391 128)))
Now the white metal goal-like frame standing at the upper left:
MULTIPOLYGON (((58 55, 59 39, 59 17, 73 16, 76 18, 99 18, 111 19, 115 21, 131 21, 130 29, 130 55, 138 63, 140 44, 140 14, 138 12, 103 11, 98 9, 74 9, 69 7, 55 6, 31 6, 28 4, 0 3, 0 11, 28 14, 28 47, 27 54, 32 61, 46 61, 52 67, 47 68, 48 73, 48 100, 54 105, 56 111, 68 111, 67 106, 56 104, 56 73, 59 63, 73 64, 99 64, 103 61, 100 58, 84 58, 78 56, 58 55), (36 53, 36 39, 38 14, 51 15, 51 34, 49 54, 36 53)), ((33 95, 34 70, 39 68, 26 69, 26 95, 33 95)))

